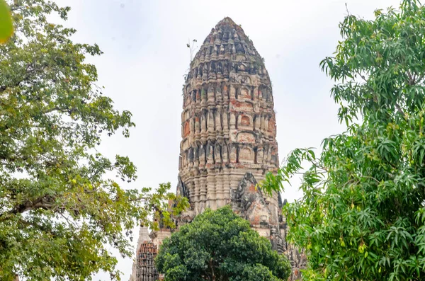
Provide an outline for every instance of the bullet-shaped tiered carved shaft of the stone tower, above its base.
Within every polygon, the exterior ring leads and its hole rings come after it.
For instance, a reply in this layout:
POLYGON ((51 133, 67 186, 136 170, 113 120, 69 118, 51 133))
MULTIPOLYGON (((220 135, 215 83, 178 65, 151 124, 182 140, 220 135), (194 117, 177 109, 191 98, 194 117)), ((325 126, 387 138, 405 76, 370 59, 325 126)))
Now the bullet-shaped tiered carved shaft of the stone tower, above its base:
MULTIPOLYGON (((271 82, 261 69, 263 59, 230 18, 212 28, 191 62, 179 176, 193 215, 229 204, 246 172, 261 180, 278 168, 276 128, 268 125, 275 119, 273 99, 262 96, 266 89, 271 96, 271 82)), ((277 207, 277 198, 271 200, 277 207)))

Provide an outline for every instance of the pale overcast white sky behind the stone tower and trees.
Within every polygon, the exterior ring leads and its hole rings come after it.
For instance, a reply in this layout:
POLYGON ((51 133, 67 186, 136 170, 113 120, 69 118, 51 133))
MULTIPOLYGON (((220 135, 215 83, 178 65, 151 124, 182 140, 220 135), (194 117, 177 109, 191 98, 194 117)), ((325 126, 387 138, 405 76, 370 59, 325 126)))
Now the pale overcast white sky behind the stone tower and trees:
MULTIPOLYGON (((67 26, 77 42, 97 43, 104 55, 96 64, 99 84, 116 108, 130 110, 136 127, 129 139, 105 139, 101 150, 128 155, 138 170, 134 188, 176 186, 181 140, 183 75, 188 70, 188 40, 199 45, 225 16, 242 25, 266 60, 273 83, 280 160, 296 147, 319 147, 324 137, 344 130, 329 96, 330 79, 319 62, 331 55, 339 22, 348 11, 373 18, 375 8, 395 0, 58 0, 69 5, 67 26)), ((295 180, 296 183, 296 180, 295 180)), ((297 186, 283 195, 300 197, 297 186)), ((135 239, 137 240, 137 239, 135 239)), ((123 280, 132 260, 120 259, 123 280)), ((108 280, 99 273, 94 280, 108 280)))

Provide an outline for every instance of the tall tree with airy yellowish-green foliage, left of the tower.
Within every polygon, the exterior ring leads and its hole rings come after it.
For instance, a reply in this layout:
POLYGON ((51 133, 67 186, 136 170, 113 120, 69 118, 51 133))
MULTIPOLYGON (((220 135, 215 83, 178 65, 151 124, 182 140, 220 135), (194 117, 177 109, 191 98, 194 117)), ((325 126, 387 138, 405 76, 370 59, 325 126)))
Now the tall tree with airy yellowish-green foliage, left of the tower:
POLYGON ((84 59, 99 47, 76 44, 76 30, 47 21, 50 13, 66 20, 69 7, 8 4, 16 33, 0 45, 0 280, 90 280, 98 270, 119 280, 110 246, 131 256, 133 226, 149 215, 173 226, 167 200, 176 200, 173 212, 187 200, 169 184, 157 193, 123 189, 113 176, 132 182, 135 166, 96 150, 135 125, 96 86, 96 67, 84 59))

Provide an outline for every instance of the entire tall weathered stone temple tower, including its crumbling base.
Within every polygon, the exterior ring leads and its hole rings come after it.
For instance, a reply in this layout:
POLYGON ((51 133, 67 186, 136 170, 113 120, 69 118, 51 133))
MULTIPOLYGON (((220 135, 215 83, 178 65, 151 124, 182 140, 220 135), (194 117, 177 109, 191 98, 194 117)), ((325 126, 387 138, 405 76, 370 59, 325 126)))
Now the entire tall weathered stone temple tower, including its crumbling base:
MULTIPOLYGON (((286 242, 282 198, 256 188, 279 166, 273 106, 263 59, 240 25, 224 18, 193 58, 183 88, 176 193, 187 197, 191 207, 177 224, 190 223, 205 208, 231 205, 288 257, 293 267, 290 280, 296 280, 305 255, 286 242)), ((170 235, 170 229, 162 229, 150 238, 160 246, 170 235)))

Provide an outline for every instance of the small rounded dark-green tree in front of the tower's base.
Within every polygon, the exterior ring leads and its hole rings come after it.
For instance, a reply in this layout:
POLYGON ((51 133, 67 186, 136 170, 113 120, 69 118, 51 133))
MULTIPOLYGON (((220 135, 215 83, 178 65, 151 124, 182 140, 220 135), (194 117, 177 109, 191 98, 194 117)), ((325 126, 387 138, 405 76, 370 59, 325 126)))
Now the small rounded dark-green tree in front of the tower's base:
POLYGON ((205 210, 165 239, 156 259, 166 281, 286 280, 290 265, 230 207, 205 210))

